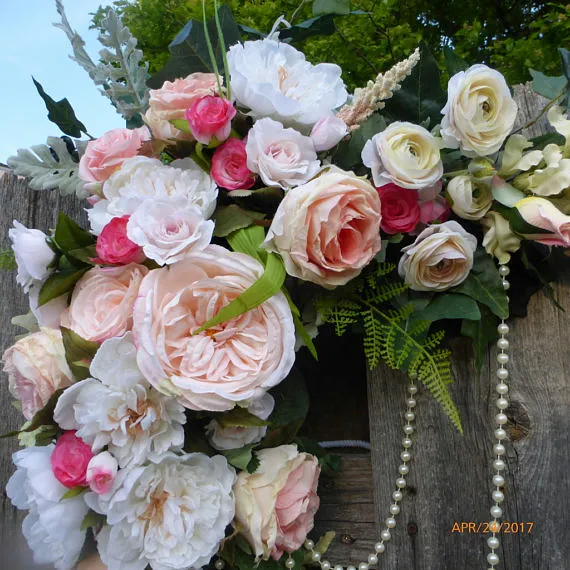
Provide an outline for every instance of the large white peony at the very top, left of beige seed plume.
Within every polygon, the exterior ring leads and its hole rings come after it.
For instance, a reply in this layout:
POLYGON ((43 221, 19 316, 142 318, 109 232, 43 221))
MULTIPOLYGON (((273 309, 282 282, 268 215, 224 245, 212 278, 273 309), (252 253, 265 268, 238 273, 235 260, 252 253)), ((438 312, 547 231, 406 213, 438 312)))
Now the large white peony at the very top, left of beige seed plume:
POLYGON ((233 45, 228 52, 232 93, 254 118, 310 128, 346 102, 341 68, 313 65, 294 47, 272 39, 233 45))

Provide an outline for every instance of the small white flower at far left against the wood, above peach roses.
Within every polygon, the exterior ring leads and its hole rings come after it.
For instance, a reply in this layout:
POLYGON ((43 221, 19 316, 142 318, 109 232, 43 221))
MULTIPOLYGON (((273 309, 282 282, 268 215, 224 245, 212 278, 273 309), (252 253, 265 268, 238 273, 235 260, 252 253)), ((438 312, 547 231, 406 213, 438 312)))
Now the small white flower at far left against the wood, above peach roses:
POLYGON ((51 273, 48 265, 55 253, 47 244, 47 236, 43 232, 28 229, 17 220, 14 220, 14 227, 8 230, 8 236, 18 264, 16 281, 27 293, 34 283, 43 281, 51 273))

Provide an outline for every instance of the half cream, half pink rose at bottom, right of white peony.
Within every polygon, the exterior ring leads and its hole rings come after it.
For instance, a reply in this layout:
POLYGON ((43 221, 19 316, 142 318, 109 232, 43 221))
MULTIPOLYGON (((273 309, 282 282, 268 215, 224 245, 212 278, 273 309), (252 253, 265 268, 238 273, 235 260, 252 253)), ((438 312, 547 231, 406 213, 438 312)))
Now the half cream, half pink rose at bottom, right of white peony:
POLYGON ((236 522, 256 557, 279 560, 312 530, 319 508, 317 458, 295 445, 257 452, 259 467, 242 471, 234 484, 236 522))

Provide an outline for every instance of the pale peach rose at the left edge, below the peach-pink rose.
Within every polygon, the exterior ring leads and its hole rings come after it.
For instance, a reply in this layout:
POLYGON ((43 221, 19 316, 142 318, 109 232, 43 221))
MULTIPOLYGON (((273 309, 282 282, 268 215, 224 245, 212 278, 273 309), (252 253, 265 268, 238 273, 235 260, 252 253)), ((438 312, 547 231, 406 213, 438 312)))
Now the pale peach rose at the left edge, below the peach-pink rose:
POLYGON ((59 329, 42 328, 12 345, 2 357, 11 394, 22 402, 27 420, 51 395, 73 382, 59 329))

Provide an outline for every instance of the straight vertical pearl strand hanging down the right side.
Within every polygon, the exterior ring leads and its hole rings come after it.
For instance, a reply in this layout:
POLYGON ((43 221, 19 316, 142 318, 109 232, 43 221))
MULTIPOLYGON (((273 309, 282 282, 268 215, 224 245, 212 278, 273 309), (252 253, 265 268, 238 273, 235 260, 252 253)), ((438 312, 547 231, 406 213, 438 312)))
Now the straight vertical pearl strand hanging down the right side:
MULTIPOLYGON (((503 288, 507 291, 510 287, 507 281, 507 276, 510 270, 506 265, 501 265, 499 267, 499 274, 503 279, 503 288)), ((505 454, 505 446, 503 444, 504 440, 507 439, 507 432, 505 431, 505 424, 507 423, 507 415, 505 410, 509 405, 507 399, 507 394, 509 392, 509 387, 506 384, 506 380, 509 377, 509 371, 507 370, 507 364, 509 362, 509 355, 507 350, 509 348, 509 341, 507 340, 507 334, 509 333, 509 326, 505 321, 501 321, 501 324, 497 327, 499 333, 499 340, 497 341, 497 348, 499 352, 497 354, 497 362, 499 368, 497 369, 497 385, 495 390, 497 391, 498 398, 495 402, 498 413, 495 415, 496 429, 495 429, 495 440, 496 443, 493 446, 493 455, 495 457, 493 461, 493 492, 491 494, 493 499, 493 505, 491 507, 491 523, 489 524, 489 530, 491 531, 491 536, 487 539, 487 545, 491 549, 491 552, 487 555, 487 562, 489 563, 489 570, 495 570, 495 566, 499 563, 499 556, 495 552, 499 548, 499 539, 497 535, 501 528, 499 519, 503 515, 503 509, 501 508, 501 503, 503 502, 505 496, 503 494, 502 488, 505 484, 505 478, 502 473, 505 469, 505 462, 503 456, 505 454)))

